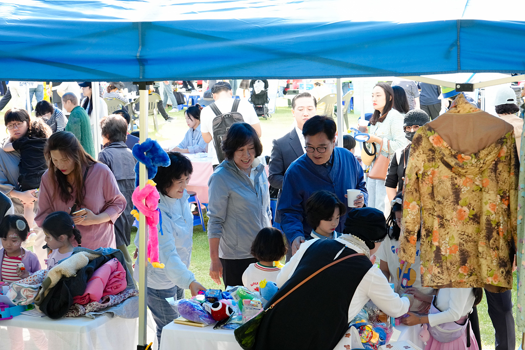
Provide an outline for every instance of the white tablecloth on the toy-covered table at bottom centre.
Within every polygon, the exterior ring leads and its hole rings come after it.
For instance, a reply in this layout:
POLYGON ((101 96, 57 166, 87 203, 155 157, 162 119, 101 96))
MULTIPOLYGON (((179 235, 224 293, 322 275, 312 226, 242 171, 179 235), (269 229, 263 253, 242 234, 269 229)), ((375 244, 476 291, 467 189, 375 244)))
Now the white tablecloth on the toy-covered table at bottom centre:
MULTIPOLYGON (((397 341, 409 340, 415 345, 425 348, 419 341, 419 327, 405 325, 396 326, 401 331, 397 341)), ((169 323, 162 328, 161 346, 159 350, 240 350, 231 330, 214 330, 213 325, 193 327, 177 323, 169 323)))

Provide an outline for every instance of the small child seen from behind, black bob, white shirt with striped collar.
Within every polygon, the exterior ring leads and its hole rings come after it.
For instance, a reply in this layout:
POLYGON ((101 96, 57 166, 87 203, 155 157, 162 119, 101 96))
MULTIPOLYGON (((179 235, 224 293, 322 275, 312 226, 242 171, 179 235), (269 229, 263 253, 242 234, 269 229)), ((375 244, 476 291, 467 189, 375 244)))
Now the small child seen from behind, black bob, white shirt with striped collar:
POLYGON ((251 243, 251 255, 258 260, 249 264, 243 273, 244 287, 259 291, 259 282, 277 281, 282 264, 279 260, 286 255, 286 245, 282 232, 274 227, 265 227, 259 231, 251 243))

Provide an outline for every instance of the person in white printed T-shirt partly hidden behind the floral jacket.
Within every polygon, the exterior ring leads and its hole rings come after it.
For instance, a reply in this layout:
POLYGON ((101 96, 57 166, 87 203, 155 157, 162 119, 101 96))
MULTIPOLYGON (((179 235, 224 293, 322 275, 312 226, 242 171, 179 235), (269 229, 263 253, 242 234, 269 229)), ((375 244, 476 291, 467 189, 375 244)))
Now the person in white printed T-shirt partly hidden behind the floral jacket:
MULTIPOLYGON (((419 253, 416 254, 416 259, 413 264, 405 263, 397 256, 397 249, 399 248, 399 236, 401 235, 401 217, 403 213, 403 196, 401 194, 395 196, 392 200, 392 211, 390 216, 386 219, 388 226, 388 235, 381 244, 381 247, 376 252, 377 259, 380 260, 379 268, 385 275, 387 280, 394 283, 394 290, 400 294, 407 292, 408 294, 415 294, 416 298, 410 310, 414 312, 427 312, 432 296, 426 300, 425 296, 434 293, 433 288, 422 287, 421 273, 419 265, 419 253), (401 280, 401 281, 400 281, 401 280), (422 294, 424 296, 422 296, 422 294)), ((419 239, 421 232, 417 234, 416 247, 419 251, 419 239)))

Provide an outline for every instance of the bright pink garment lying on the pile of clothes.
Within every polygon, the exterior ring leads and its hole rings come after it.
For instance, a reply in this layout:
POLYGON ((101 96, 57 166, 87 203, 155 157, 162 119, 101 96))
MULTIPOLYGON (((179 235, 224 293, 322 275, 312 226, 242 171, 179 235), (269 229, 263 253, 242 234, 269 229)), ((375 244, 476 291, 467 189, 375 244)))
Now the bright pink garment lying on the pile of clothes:
MULTIPOLYGON (((73 298, 73 301, 80 305, 85 305, 92 301, 99 301, 100 298, 102 298, 104 289, 106 289, 106 285, 108 284, 108 281, 110 280, 112 273, 120 272, 120 271, 124 271, 124 269, 122 268, 122 264, 117 259, 113 258, 110 261, 106 262, 101 267, 99 267, 97 270, 95 270, 95 272, 93 272, 93 275, 88 280, 84 294, 75 296, 73 298)), ((124 273, 124 280, 125 280, 125 273, 124 273)), ((124 289, 125 289, 125 285, 122 290, 124 289)))

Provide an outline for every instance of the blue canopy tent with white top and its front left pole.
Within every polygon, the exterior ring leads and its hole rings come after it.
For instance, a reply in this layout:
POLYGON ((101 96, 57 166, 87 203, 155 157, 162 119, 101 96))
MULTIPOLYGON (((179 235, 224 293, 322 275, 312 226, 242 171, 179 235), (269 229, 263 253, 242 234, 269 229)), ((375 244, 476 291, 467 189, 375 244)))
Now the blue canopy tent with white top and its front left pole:
MULTIPOLYGON (((511 0, 4 0, 0 80, 525 73, 525 21, 516 5, 511 0)), ((141 106, 147 99, 141 90, 141 106)), ((146 131, 141 142, 147 137, 146 113, 141 110, 146 131)), ((141 166, 141 186, 145 175, 141 166)), ((139 263, 145 271, 143 216, 140 222, 139 263)), ((143 274, 141 287, 145 282, 143 274)), ((143 298, 141 293, 141 345, 146 343, 143 298)))

